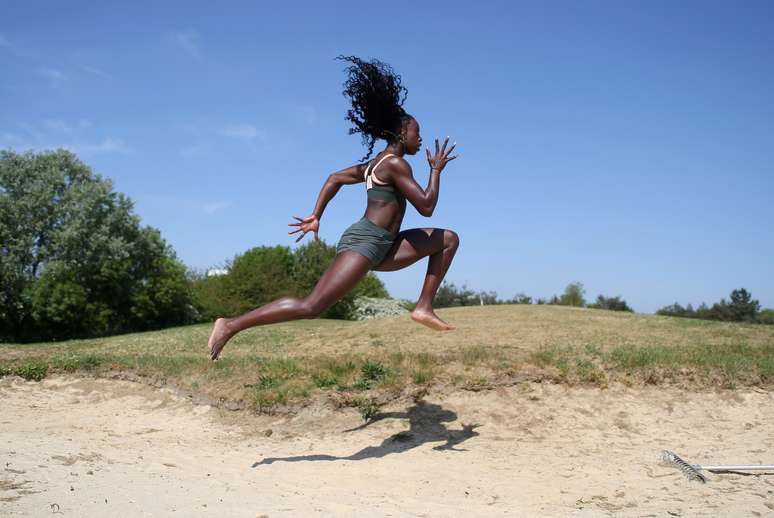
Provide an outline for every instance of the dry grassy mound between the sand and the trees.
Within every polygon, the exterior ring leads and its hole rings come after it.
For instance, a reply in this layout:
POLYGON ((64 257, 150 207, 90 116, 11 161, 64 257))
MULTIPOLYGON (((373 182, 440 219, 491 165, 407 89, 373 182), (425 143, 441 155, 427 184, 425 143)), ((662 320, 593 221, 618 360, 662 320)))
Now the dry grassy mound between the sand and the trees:
POLYGON ((127 372, 214 402, 242 401, 257 411, 276 411, 310 397, 343 398, 359 407, 415 385, 482 390, 523 379, 600 387, 611 382, 774 385, 774 326, 557 306, 439 313, 458 329, 436 333, 408 317, 254 328, 236 336, 215 363, 206 354, 209 324, 93 340, 0 344, 0 376, 39 381, 52 373, 127 372))

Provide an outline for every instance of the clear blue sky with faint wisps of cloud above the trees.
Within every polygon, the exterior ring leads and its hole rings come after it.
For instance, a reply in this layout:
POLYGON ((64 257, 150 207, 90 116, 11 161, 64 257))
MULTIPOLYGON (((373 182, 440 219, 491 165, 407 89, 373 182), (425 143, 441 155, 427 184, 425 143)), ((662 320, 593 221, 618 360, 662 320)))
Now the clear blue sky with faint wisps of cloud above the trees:
MULTIPOLYGON (((222 265, 292 244, 291 216, 363 155, 333 58, 378 58, 425 142, 463 153, 433 217, 404 222, 460 234, 449 280, 774 307, 773 2, 430 5, 5 1, 0 147, 74 150, 186 265, 222 265)), ((321 237, 364 207, 344 188, 321 237)), ((424 268, 379 276, 415 298, 424 268)))

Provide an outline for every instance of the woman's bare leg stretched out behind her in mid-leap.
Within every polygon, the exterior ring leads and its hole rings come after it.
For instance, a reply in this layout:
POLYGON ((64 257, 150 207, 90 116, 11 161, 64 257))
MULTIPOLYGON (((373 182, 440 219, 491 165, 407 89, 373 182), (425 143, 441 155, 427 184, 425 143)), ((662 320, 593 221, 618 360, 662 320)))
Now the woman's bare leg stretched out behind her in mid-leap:
POLYGON ((217 319, 208 344, 210 357, 213 360, 218 359, 226 342, 249 327, 319 317, 323 311, 349 293, 368 273, 371 266, 371 261, 357 252, 342 252, 336 255, 309 296, 283 297, 244 315, 217 319))

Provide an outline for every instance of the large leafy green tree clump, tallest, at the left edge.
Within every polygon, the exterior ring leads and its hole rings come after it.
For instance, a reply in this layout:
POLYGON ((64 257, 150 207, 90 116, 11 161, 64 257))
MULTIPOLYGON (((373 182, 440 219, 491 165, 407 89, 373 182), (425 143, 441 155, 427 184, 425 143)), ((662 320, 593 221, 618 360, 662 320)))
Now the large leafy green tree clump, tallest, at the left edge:
POLYGON ((68 151, 0 152, 0 339, 190 322, 184 266, 132 201, 68 151))

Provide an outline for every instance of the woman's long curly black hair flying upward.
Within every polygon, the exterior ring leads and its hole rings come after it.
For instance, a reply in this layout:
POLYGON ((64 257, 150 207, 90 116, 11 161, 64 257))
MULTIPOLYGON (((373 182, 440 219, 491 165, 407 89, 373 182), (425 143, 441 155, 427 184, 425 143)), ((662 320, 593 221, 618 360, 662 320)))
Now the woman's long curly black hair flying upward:
POLYGON ((342 92, 352 103, 345 119, 354 125, 349 129, 350 135, 362 134, 363 145, 368 147, 368 154, 362 160, 368 160, 377 139, 397 140, 403 124, 413 118, 403 109, 408 90, 386 63, 376 59, 366 62, 355 56, 336 59, 352 63, 346 69, 347 80, 342 92))

